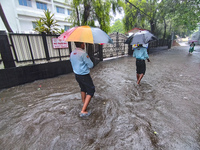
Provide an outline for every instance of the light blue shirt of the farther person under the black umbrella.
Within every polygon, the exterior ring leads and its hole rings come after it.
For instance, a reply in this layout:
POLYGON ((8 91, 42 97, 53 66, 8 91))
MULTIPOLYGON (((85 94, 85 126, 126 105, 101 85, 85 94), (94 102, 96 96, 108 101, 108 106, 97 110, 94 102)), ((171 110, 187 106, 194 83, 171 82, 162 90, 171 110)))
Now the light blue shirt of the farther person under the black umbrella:
POLYGON ((147 54, 147 49, 145 47, 137 47, 133 52, 133 57, 145 60, 149 58, 149 55, 147 54))

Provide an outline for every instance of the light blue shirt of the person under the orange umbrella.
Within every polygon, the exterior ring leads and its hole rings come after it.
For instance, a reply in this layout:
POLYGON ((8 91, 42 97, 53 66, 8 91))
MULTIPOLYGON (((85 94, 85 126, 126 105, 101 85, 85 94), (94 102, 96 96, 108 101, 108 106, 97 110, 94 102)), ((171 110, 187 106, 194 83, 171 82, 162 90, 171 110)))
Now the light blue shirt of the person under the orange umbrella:
POLYGON ((86 75, 90 73, 90 68, 93 67, 88 54, 81 48, 76 48, 70 54, 70 61, 75 74, 86 75))

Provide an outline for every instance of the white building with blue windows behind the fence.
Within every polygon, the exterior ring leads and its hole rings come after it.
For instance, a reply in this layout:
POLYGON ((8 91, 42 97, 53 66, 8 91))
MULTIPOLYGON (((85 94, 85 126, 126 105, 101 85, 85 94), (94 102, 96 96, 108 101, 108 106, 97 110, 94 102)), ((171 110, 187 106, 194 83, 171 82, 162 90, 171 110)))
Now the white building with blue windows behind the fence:
MULTIPOLYGON (((44 10, 50 10, 59 29, 69 29, 68 22, 72 8, 66 0, 0 0, 6 19, 14 33, 34 33, 36 20, 44 17, 44 10)), ((0 30, 6 30, 0 19, 0 30)))

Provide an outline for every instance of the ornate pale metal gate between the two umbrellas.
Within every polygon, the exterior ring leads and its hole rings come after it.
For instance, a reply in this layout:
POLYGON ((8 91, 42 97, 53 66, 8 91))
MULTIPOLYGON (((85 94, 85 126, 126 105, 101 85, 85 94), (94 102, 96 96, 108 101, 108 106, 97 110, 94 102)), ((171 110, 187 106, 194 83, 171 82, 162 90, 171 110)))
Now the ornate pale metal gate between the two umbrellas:
POLYGON ((103 58, 118 57, 128 54, 127 36, 118 32, 109 35, 114 44, 103 45, 103 58))

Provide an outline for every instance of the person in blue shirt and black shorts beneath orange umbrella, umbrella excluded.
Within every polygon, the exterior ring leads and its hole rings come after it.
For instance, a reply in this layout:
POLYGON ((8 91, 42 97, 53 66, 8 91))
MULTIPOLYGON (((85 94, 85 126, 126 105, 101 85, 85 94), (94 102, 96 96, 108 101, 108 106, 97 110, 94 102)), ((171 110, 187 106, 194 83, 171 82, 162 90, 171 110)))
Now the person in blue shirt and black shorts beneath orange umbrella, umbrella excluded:
POLYGON ((90 76, 90 69, 93 67, 93 62, 84 51, 84 43, 75 42, 75 45, 76 49, 70 54, 70 61, 76 81, 79 83, 81 89, 83 107, 80 112, 80 117, 87 117, 91 114, 91 111, 86 111, 86 109, 95 92, 95 86, 90 76))

